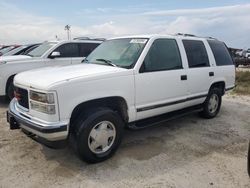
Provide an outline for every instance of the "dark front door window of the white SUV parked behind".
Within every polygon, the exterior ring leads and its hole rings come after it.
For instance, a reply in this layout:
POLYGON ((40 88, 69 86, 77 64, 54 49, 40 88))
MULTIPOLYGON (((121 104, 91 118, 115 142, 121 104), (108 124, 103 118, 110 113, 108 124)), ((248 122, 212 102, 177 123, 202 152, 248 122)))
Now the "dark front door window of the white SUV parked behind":
POLYGON ((60 52, 60 57, 80 57, 78 44, 68 43, 59 46, 54 52, 60 52))

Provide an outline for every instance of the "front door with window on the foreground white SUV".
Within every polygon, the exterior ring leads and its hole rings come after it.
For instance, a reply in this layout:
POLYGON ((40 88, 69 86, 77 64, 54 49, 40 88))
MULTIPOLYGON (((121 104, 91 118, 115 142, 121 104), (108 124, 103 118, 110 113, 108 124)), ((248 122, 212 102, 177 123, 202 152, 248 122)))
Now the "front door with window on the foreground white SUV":
POLYGON ((183 108, 186 70, 175 39, 156 39, 135 75, 137 120, 183 108))

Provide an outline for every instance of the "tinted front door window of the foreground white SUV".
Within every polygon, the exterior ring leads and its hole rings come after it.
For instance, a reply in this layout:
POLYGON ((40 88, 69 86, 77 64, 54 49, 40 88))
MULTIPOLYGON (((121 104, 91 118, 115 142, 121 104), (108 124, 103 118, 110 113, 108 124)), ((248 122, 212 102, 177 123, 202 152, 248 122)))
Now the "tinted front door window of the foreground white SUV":
POLYGON ((145 57, 142 70, 150 72, 181 68, 182 61, 176 41, 173 39, 157 39, 145 57))

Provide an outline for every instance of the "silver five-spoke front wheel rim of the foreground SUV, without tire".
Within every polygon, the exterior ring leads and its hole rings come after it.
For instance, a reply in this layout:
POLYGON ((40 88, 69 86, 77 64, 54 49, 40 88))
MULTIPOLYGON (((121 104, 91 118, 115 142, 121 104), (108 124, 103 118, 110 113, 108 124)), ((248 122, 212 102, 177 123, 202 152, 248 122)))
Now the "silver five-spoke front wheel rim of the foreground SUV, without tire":
POLYGON ((89 149, 96 154, 108 151, 114 143, 116 130, 113 123, 102 121, 90 131, 88 138, 89 149))

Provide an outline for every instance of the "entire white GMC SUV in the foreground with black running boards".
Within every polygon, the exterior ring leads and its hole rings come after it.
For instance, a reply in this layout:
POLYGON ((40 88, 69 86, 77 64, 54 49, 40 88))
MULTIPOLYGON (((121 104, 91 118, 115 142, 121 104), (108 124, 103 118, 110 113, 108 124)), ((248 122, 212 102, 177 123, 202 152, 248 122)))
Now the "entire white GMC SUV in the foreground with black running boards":
POLYGON ((21 73, 14 82, 10 128, 47 145, 70 140, 94 163, 114 154, 124 126, 139 129, 193 111, 215 117, 234 87, 235 67, 215 39, 131 36, 105 41, 81 65, 21 73))

